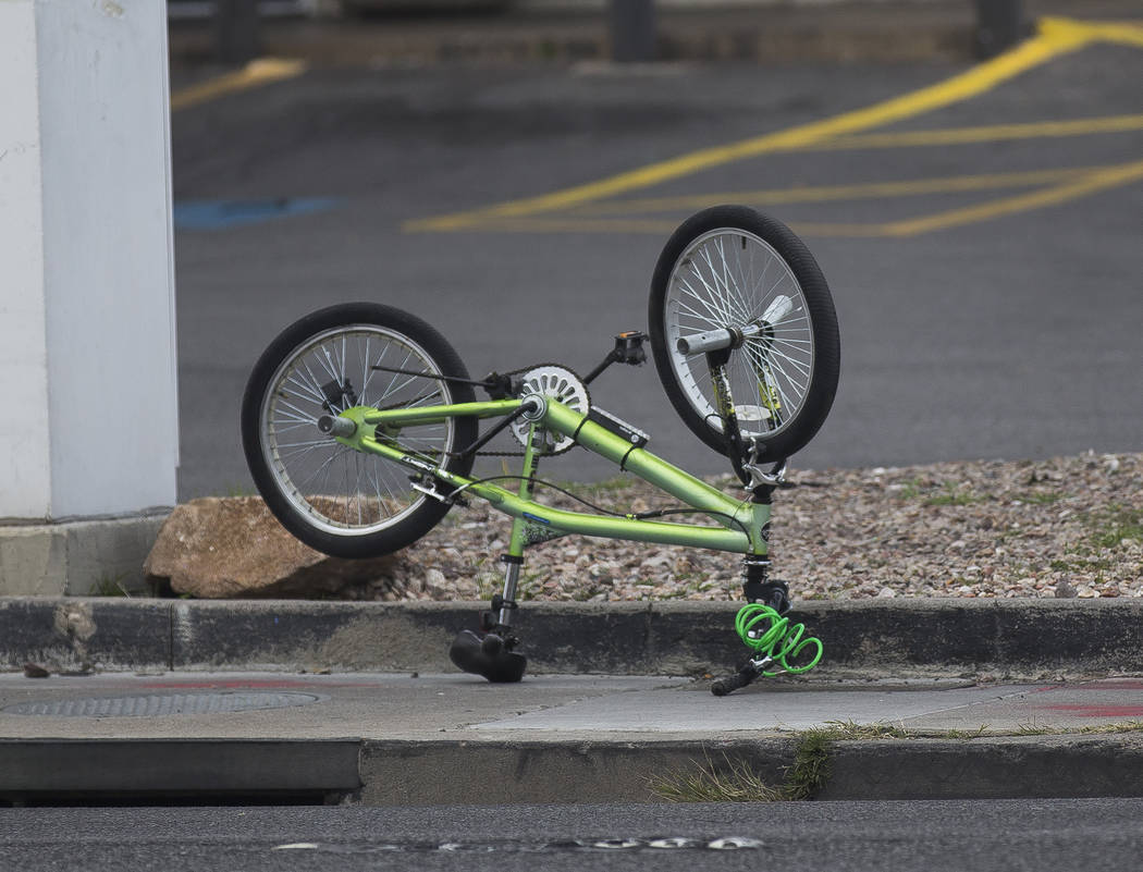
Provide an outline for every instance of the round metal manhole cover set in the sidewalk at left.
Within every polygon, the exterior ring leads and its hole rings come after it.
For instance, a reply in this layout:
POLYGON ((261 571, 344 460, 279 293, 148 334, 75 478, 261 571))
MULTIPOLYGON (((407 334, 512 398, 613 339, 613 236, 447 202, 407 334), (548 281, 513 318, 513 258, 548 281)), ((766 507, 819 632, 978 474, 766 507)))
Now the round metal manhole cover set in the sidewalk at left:
POLYGON ((262 709, 289 709, 322 699, 317 694, 226 693, 147 694, 143 696, 90 697, 86 699, 40 699, 16 703, 0 710, 5 714, 49 718, 162 718, 171 714, 225 714, 262 709))

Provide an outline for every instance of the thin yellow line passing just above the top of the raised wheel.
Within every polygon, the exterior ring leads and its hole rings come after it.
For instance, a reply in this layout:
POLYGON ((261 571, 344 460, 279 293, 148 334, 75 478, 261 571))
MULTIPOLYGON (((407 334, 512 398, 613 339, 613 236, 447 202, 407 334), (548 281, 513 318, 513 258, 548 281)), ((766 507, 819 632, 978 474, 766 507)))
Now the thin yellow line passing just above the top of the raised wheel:
POLYGON ((962 191, 994 191, 999 187, 1028 187, 1073 178, 1079 175, 1104 169, 1104 167, 1077 167, 1065 169, 1041 169, 1023 173, 993 173, 975 176, 946 176, 941 178, 917 178, 908 182, 869 182, 854 185, 816 185, 774 189, 768 191, 727 191, 692 197, 655 197, 639 200, 612 200, 605 203, 588 203, 569 209, 569 215, 632 215, 638 213, 678 211, 703 209, 718 203, 743 203, 746 206, 780 206, 807 202, 838 202, 842 200, 871 200, 921 194, 957 193, 962 191))

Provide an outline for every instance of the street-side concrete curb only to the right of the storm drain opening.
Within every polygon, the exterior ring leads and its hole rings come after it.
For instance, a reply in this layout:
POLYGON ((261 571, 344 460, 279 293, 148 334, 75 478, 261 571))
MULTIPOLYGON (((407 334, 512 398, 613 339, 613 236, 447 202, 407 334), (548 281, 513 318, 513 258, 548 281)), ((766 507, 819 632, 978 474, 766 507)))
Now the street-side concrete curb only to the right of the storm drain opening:
MULTIPOLYGON (((780 786, 796 738, 366 743, 359 801, 370 806, 480 802, 645 802, 652 784, 745 765, 780 786), (473 797, 479 797, 474 800, 473 797)), ((1143 795, 1137 736, 1000 736, 834 743, 808 799, 1017 799, 1143 795)))

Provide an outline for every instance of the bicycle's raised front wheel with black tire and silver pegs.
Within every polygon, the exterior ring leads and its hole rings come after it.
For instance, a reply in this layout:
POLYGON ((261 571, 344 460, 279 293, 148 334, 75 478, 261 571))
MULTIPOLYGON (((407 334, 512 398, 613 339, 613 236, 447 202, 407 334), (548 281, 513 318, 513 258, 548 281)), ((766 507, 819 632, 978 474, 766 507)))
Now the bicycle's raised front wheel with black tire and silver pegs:
POLYGON ((677 347, 688 335, 766 325, 727 365, 742 434, 761 446, 760 459, 789 457, 825 422, 841 366, 833 299, 809 249, 782 222, 744 206, 688 218, 655 265, 648 320, 666 395, 714 450, 727 454, 727 440, 705 354, 677 347))

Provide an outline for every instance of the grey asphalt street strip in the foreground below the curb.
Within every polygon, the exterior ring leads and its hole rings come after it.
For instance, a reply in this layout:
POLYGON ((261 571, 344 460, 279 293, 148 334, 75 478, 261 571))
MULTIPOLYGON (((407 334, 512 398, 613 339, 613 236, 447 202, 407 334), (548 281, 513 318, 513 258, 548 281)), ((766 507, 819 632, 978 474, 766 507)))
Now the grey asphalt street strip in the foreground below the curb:
POLYGON ((1134 872, 1143 800, 0 809, 56 872, 1134 872))

